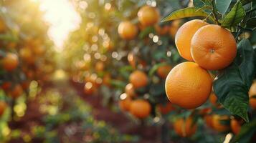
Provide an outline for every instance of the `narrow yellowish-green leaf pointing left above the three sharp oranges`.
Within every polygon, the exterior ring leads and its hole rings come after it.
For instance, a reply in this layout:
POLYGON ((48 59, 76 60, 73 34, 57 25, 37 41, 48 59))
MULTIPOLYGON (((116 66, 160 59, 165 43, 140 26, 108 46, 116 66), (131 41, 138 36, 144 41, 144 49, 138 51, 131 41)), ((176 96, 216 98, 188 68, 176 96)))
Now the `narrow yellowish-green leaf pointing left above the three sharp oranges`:
POLYGON ((194 16, 204 16, 207 17, 208 14, 200 9, 196 9, 194 7, 187 7, 185 9, 179 9, 177 11, 172 12, 169 16, 166 16, 161 22, 171 21, 175 19, 182 19, 186 17, 194 17, 194 16))

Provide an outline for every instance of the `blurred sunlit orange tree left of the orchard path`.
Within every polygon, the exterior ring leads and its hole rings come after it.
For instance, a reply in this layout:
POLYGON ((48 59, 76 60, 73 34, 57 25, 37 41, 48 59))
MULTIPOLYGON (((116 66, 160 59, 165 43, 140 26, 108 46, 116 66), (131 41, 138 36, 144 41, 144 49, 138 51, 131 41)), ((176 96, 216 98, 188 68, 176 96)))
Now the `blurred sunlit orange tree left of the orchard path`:
MULTIPOLYGON (((31 1, 0 1, 1 131, 9 119, 24 116, 32 80, 49 79, 54 70, 52 42, 39 6, 31 1), (21 16, 22 14, 22 16, 21 16), (22 106, 21 104, 25 105, 22 106), (10 112, 11 111, 11 112, 10 112)), ((32 92, 30 92, 32 93, 32 92)), ((11 120, 11 121, 14 121, 11 120)), ((6 132, 1 132, 1 139, 6 132)))

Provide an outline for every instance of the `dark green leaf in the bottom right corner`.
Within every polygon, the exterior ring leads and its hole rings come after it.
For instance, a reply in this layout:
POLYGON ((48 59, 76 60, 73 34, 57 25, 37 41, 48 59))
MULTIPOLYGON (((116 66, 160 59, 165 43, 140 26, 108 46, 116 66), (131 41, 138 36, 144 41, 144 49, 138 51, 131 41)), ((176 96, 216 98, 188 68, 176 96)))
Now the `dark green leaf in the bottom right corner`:
POLYGON ((254 119, 252 122, 244 124, 241 127, 240 132, 237 134, 237 136, 234 137, 234 140, 232 142, 250 142, 250 139, 256 132, 256 119, 254 119))

